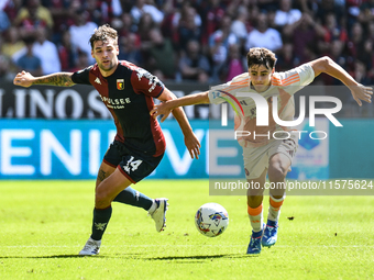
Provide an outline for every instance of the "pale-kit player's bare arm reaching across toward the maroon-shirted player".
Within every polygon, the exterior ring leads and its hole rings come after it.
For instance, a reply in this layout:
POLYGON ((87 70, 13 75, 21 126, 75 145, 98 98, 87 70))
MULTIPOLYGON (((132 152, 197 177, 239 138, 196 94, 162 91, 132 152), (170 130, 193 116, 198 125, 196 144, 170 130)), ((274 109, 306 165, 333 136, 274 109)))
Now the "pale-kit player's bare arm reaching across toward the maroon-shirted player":
POLYGON ((205 103, 209 103, 208 91, 185 96, 178 99, 169 99, 158 105, 155 105, 150 112, 150 114, 153 115, 154 117, 161 114, 164 115, 161 119, 161 122, 164 122, 168 114, 176 108, 205 103))

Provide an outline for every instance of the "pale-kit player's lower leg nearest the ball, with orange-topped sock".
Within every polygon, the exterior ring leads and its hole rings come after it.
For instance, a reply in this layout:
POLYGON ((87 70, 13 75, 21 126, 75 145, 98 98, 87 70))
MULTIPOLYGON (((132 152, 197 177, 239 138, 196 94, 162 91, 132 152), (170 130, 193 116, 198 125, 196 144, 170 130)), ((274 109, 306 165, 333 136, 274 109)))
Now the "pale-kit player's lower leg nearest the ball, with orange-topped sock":
POLYGON ((262 202, 266 171, 267 169, 264 169, 258 178, 248 180, 249 184, 252 187, 248 190, 246 197, 248 214, 251 221, 252 235, 246 254, 261 253, 261 238, 264 229, 262 202))

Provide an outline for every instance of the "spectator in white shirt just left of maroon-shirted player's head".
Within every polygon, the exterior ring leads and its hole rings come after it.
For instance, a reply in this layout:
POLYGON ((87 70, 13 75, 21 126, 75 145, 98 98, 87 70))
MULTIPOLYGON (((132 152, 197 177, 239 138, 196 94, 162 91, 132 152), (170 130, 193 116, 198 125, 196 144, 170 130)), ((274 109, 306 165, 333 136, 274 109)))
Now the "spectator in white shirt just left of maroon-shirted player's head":
POLYGON ((75 24, 70 26, 70 40, 72 45, 76 52, 82 51, 89 57, 89 63, 95 64, 95 59, 91 57, 91 46, 89 45, 89 38, 94 30, 98 27, 95 22, 87 21, 89 14, 82 9, 75 13, 75 24))

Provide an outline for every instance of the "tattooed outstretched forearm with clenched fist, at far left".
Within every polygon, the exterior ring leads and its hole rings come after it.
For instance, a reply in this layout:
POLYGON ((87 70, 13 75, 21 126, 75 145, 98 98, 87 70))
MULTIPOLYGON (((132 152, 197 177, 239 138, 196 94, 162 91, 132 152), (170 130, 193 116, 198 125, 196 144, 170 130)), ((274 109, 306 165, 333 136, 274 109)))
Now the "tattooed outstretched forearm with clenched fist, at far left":
POLYGON ((34 77, 30 72, 21 71, 14 77, 13 83, 25 88, 33 85, 72 87, 75 85, 72 80, 72 75, 73 72, 55 72, 46 76, 34 77))

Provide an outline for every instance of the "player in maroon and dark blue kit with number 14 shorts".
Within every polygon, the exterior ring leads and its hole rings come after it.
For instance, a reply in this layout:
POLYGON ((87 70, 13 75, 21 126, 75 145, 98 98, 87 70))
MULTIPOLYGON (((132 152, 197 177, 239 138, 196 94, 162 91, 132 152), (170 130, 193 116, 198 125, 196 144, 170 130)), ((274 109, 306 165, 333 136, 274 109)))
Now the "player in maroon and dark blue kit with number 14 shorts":
MULTIPOLYGON (((91 85, 114 119, 117 135, 103 157, 96 181, 92 233, 79 255, 99 254, 101 237, 112 213, 112 201, 143 208, 155 221, 156 231, 164 228, 167 199, 150 199, 129 186, 147 177, 165 152, 161 126, 157 120, 150 116, 153 98, 161 101, 176 99, 157 77, 118 59, 118 34, 109 25, 95 30, 90 44, 91 55, 96 59, 94 66, 77 72, 56 72, 42 77, 22 71, 13 81, 22 87, 91 85)), ((174 110, 174 116, 184 133, 191 158, 198 158, 200 143, 184 111, 174 110)))

